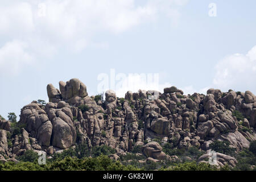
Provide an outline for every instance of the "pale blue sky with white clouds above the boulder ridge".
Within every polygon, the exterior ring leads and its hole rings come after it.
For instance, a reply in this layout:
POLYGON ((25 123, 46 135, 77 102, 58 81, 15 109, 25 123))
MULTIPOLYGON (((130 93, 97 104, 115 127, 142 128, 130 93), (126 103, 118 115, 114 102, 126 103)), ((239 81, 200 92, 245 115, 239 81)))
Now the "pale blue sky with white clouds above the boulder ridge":
POLYGON ((256 94, 255 7, 254 0, 2 0, 0 114, 48 102, 47 84, 59 89, 71 78, 89 96, 173 85, 185 94, 256 94))

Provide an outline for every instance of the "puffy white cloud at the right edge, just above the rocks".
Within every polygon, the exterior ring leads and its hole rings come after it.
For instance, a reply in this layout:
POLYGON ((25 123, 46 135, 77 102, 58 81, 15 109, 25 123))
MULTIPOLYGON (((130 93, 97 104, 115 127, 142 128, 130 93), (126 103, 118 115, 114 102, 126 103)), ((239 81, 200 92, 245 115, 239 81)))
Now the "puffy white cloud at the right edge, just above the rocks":
POLYGON ((236 53, 220 60, 215 69, 213 85, 222 90, 256 91, 256 46, 246 55, 236 53))

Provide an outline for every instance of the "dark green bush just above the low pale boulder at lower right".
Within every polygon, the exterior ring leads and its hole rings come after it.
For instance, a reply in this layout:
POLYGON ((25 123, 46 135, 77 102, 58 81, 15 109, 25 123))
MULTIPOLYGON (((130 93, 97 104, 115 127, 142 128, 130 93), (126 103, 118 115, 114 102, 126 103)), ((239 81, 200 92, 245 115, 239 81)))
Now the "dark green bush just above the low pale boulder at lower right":
POLYGON ((226 155, 232 155, 236 149, 229 147, 229 144, 230 143, 228 141, 215 140, 213 143, 209 144, 209 147, 216 152, 220 152, 226 155))

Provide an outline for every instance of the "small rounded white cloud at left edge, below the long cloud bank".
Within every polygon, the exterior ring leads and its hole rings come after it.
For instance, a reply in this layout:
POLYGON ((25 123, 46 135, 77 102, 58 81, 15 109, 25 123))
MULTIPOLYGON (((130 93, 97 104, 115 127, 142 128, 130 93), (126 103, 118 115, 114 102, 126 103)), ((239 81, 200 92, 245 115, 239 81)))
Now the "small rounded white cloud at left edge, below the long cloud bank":
POLYGON ((33 57, 26 51, 27 44, 18 40, 7 42, 0 48, 0 74, 16 75, 20 69, 31 64, 33 57))

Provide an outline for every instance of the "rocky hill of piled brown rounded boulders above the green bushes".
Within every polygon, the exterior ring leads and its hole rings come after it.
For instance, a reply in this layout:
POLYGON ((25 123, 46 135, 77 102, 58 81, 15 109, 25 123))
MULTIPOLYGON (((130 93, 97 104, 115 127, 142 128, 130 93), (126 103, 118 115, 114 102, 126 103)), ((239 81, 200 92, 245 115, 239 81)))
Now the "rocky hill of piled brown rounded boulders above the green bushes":
MULTIPOLYGON (((220 140, 241 151, 256 140, 256 97, 250 91, 224 93, 209 89, 206 96, 185 96, 182 90, 171 86, 163 93, 129 91, 125 98, 118 98, 108 90, 104 101, 88 96, 86 86, 73 78, 60 81, 59 89, 48 84, 47 94, 46 105, 33 101, 21 109, 19 125, 23 128, 20 135, 12 135, 11 146, 7 142, 11 123, 0 118, 2 156, 11 160, 26 150, 43 150, 52 155, 76 143, 86 143, 88 147, 114 148, 116 154, 112 158, 142 146, 142 154, 148 160, 176 160, 177 156, 163 152, 163 144, 207 151, 210 143, 220 140), (148 99, 152 94, 154 99, 148 99)), ((199 160, 203 161, 206 155, 199 160)), ((218 165, 236 165, 231 156, 217 155, 218 165)))

